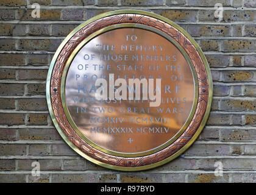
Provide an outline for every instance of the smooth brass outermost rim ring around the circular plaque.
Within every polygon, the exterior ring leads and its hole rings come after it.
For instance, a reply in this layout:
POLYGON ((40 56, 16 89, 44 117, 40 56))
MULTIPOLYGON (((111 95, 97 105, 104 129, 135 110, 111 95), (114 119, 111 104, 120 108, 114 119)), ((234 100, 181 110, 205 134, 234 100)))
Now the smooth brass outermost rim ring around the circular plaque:
POLYGON ((63 140, 66 141, 66 143, 68 143, 69 146, 71 146, 74 151, 76 151, 78 154, 82 155, 82 157, 87 158, 87 160, 92 161, 93 163, 96 163, 98 165, 104 166, 105 168, 110 168, 110 169, 116 169, 116 170, 121 170, 121 171, 140 171, 143 169, 150 169, 150 168, 154 168, 160 165, 163 165, 165 163, 167 163, 168 161, 173 160, 174 158, 178 157, 180 154, 182 154, 185 150, 188 149, 188 147, 191 146, 191 144, 193 144, 193 142, 196 140, 196 138, 199 136, 199 134, 201 133, 202 129, 205 126, 205 123, 207 122, 207 118, 208 115, 210 113, 210 107, 212 104, 212 96, 213 96, 213 87, 212 87, 212 76, 210 74, 210 68, 208 66, 207 60, 205 58, 205 55, 203 54, 201 48, 199 48, 198 44, 196 43, 196 41, 193 40, 193 38, 187 33, 185 32, 185 30, 183 30, 181 27, 179 27, 177 24, 173 23, 172 21, 170 21, 169 19, 166 19, 162 16, 156 15, 154 13, 150 13, 150 12, 144 12, 141 10, 116 10, 113 12, 107 12, 107 13, 103 13, 101 15, 95 16, 94 18, 88 19, 88 21, 85 21, 85 23, 80 24, 78 27, 76 27, 76 29, 74 29, 66 38, 65 40, 62 42, 62 44, 60 44, 59 48, 57 49, 57 51, 55 52, 55 55, 52 59, 51 65, 49 67, 49 71, 48 71, 48 77, 46 80, 46 98, 47 98, 47 102, 48 102, 48 108, 49 108, 49 113, 51 115, 52 121, 54 123, 54 126, 56 127, 56 129, 58 130, 58 132, 60 133, 60 135, 62 136, 63 140), (199 53, 202 62, 204 63, 205 66, 205 72, 207 74, 207 81, 208 81, 208 101, 207 101, 207 108, 205 110, 205 114, 204 117, 199 125, 199 127, 196 130, 196 133, 194 133, 193 137, 190 139, 190 141, 187 142, 187 144, 185 144, 185 146, 183 146, 179 151, 177 151, 175 154, 172 154, 171 156, 169 156, 168 158, 165 158, 164 160, 161 161, 157 161, 156 163, 152 163, 151 165, 145 165, 145 166, 135 166, 135 167, 127 167, 127 166, 115 166, 115 165, 108 165, 107 163, 102 163, 101 161, 95 160, 94 158, 89 157, 88 155, 86 155, 84 152, 80 151, 74 144, 73 142, 71 142, 66 136, 65 134, 62 132, 62 129, 60 128, 58 122, 56 121, 55 115, 54 115, 54 110, 52 109, 52 103, 51 103, 51 94, 50 94, 50 84, 51 84, 51 77, 52 77, 52 70, 54 68, 55 62, 57 60, 58 55, 60 54, 60 52, 62 51, 63 46, 65 46, 65 44, 69 41, 69 39, 71 37, 73 37, 74 34, 76 34, 76 32, 80 29, 82 29, 82 27, 87 26, 88 24, 92 23, 93 21, 96 21, 100 18, 104 18, 107 16, 112 16, 112 15, 117 15, 117 14, 125 14, 125 13, 133 13, 133 14, 140 14, 140 15, 146 15, 146 16, 151 16, 152 18, 157 18, 161 21, 164 21, 165 23, 171 25, 172 27, 175 27, 177 30, 179 30, 183 35, 185 35, 185 37, 191 41, 191 43, 193 44, 193 46, 196 48, 197 52, 199 53))

